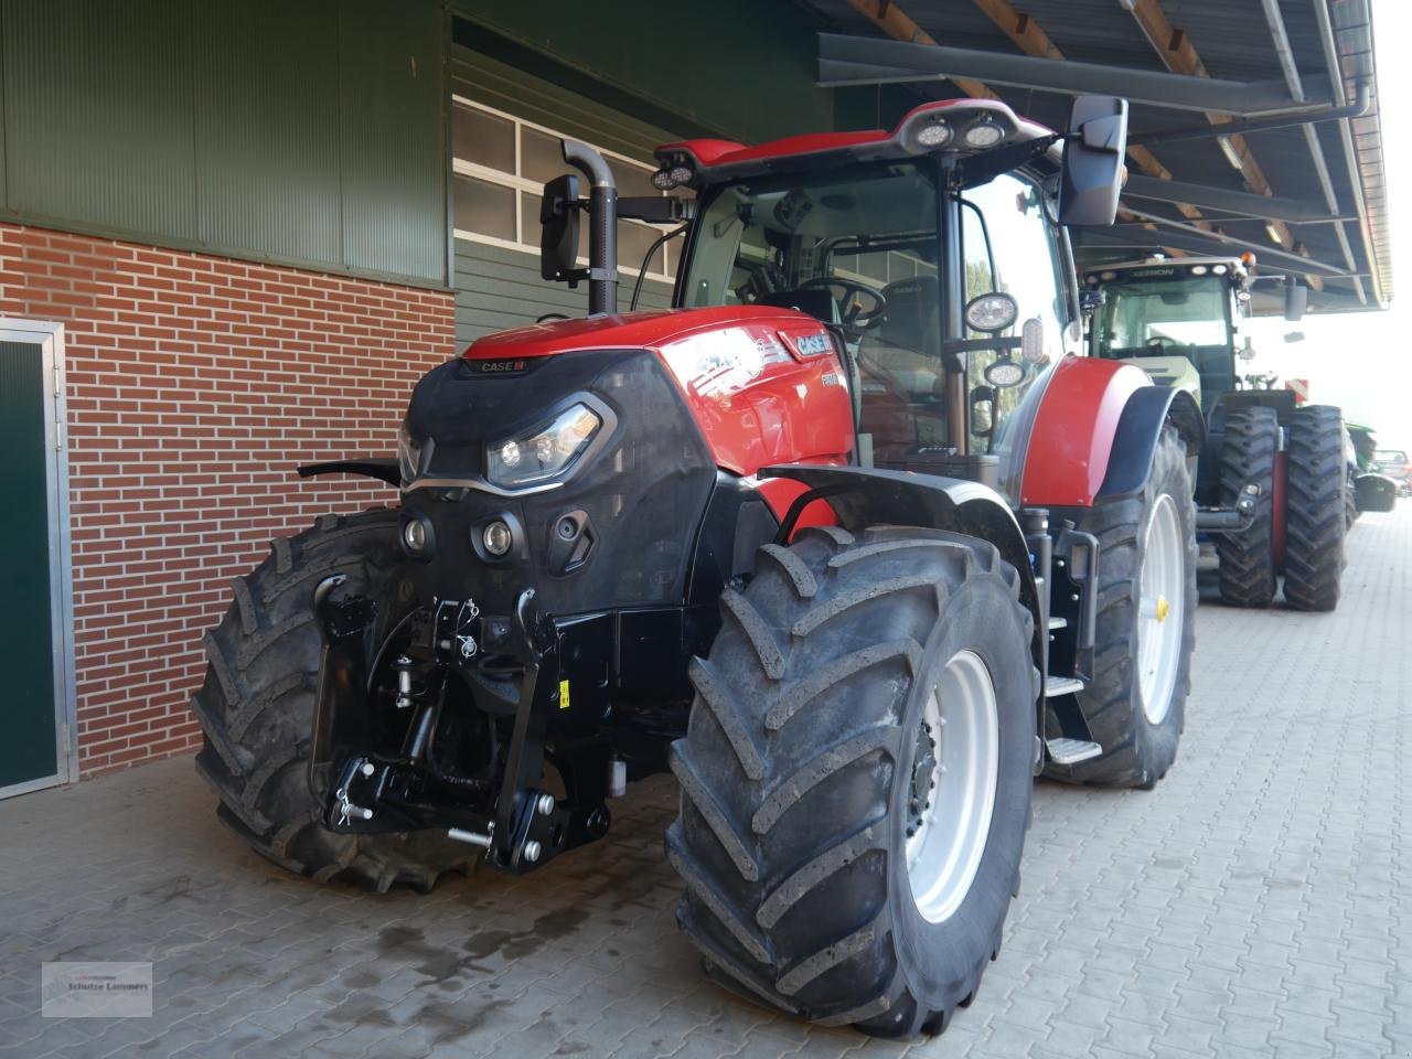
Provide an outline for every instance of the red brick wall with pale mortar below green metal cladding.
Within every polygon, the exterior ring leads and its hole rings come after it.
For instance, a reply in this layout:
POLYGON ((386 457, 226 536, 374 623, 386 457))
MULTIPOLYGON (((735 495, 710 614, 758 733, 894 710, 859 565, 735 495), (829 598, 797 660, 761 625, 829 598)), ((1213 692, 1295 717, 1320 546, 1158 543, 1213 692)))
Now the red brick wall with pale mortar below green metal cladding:
POLYGON ((85 775, 195 748, 201 634, 271 537, 390 503, 298 463, 391 455, 452 297, 0 225, 0 315, 65 326, 85 775))

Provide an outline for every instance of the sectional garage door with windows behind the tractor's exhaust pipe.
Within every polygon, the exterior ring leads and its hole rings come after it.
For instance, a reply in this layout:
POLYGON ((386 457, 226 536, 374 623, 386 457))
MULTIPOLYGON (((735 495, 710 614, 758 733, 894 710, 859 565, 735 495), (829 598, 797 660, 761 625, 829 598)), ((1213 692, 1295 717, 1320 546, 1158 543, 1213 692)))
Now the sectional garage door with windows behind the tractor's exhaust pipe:
MULTIPOLYGON (((457 345, 549 312, 583 315, 587 284, 570 291, 539 278, 539 192, 569 171, 559 137, 602 151, 620 195, 659 195, 648 182, 652 148, 678 137, 463 48, 453 52, 450 109, 457 345)), ((618 223, 620 309, 647 247, 666 230, 618 223)), ((648 264, 638 308, 671 304, 679 240, 665 250, 648 264)))

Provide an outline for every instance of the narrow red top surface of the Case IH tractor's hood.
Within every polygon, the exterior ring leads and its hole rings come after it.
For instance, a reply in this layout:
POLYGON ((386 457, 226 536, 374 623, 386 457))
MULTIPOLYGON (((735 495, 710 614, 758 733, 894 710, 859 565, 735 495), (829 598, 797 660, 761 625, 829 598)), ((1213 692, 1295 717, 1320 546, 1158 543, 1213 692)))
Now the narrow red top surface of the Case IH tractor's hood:
POLYGON ((710 309, 644 309, 579 321, 554 321, 476 339, 467 360, 552 357, 589 349, 661 349, 690 335, 729 326, 822 330, 818 321, 768 305, 720 305, 710 309))

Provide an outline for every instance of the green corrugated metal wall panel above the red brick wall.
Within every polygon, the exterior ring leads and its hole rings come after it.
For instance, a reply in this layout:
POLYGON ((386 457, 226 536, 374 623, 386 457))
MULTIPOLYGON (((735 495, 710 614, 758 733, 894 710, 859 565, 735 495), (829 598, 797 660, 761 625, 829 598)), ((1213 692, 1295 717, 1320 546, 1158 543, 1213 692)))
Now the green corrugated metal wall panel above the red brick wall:
POLYGON ((439 0, 0 0, 0 216, 448 285, 439 0))

